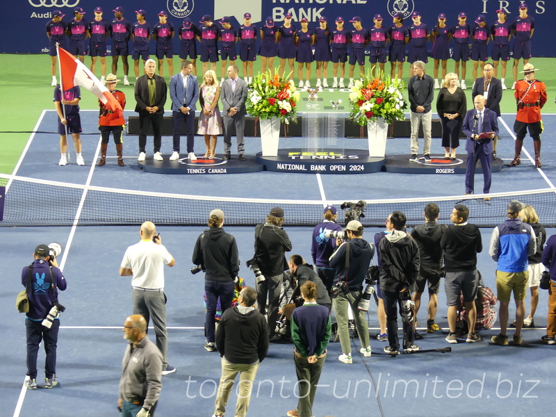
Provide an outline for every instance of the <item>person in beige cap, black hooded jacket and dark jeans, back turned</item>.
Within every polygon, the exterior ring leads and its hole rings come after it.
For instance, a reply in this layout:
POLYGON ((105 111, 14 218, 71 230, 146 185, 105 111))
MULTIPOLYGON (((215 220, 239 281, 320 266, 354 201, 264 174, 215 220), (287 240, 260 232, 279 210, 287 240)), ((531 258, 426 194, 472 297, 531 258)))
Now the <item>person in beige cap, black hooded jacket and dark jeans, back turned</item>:
POLYGON ((205 271, 204 291, 206 292, 205 332, 208 352, 216 352, 215 320, 216 304, 220 297, 222 314, 231 307, 234 299, 235 279, 239 272, 238 245, 236 238, 227 234, 224 225, 224 212, 218 208, 211 211, 208 227, 197 238, 193 249, 193 263, 202 265, 205 271))

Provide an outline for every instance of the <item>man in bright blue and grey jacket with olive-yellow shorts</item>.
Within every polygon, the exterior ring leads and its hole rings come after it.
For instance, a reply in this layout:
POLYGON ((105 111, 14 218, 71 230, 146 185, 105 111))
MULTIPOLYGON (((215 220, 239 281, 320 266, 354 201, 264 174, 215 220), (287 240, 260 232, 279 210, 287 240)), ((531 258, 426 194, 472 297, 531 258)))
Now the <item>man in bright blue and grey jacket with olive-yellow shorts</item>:
POLYGON ((534 254, 537 238, 532 227, 519 220, 523 204, 514 200, 508 203, 508 219, 492 231, 489 255, 498 262, 496 290, 500 302, 500 334, 492 336, 492 343, 505 346, 508 325, 508 306, 514 293, 516 300, 516 332, 514 345, 521 345, 521 327, 525 318, 525 296, 527 295, 528 256, 534 254))

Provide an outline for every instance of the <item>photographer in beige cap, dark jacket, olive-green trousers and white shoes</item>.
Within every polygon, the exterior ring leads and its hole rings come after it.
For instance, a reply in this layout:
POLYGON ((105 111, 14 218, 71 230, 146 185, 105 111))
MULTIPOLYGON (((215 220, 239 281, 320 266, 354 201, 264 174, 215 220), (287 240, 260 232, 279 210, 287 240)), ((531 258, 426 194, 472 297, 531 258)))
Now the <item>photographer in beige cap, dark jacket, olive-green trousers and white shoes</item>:
POLYGON ((370 260, 375 254, 375 246, 363 239, 363 226, 358 220, 347 223, 344 231, 347 241, 338 246, 329 261, 330 266, 336 268, 338 281, 343 281, 347 286, 346 291, 340 291, 333 301, 343 352, 338 359, 343 363, 352 363, 350 333, 347 329, 347 309, 350 307, 361 340, 361 353, 365 357, 370 357, 369 330, 365 312, 359 310, 357 306, 363 295, 363 281, 367 275, 370 260))

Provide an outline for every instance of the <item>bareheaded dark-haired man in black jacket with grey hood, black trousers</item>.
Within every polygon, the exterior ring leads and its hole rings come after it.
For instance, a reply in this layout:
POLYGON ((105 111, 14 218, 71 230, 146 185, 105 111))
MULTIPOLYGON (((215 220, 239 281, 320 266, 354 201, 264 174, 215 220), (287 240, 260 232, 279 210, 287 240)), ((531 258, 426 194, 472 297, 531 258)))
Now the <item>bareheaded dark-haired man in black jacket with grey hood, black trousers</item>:
POLYGON ((384 346, 384 352, 389 354, 400 353, 398 304, 404 329, 404 351, 414 352, 419 349, 414 344, 414 313, 408 309, 411 300, 409 288, 419 275, 419 248, 415 240, 403 231, 405 220, 404 213, 394 211, 386 222, 386 227, 392 231, 378 245, 382 261, 380 290, 384 299, 389 342, 388 346, 384 346))

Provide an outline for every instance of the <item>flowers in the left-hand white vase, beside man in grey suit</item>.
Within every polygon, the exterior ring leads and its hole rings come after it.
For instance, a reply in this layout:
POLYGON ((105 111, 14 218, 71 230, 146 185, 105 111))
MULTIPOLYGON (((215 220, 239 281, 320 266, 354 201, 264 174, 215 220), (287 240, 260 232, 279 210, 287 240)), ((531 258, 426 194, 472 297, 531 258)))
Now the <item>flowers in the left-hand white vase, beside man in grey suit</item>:
POLYGON ((247 93, 245 108, 247 113, 259 119, 270 119, 278 117, 281 122, 288 124, 297 121, 296 108, 300 99, 300 92, 295 90, 293 80, 281 77, 267 71, 257 74, 250 90, 247 93))

